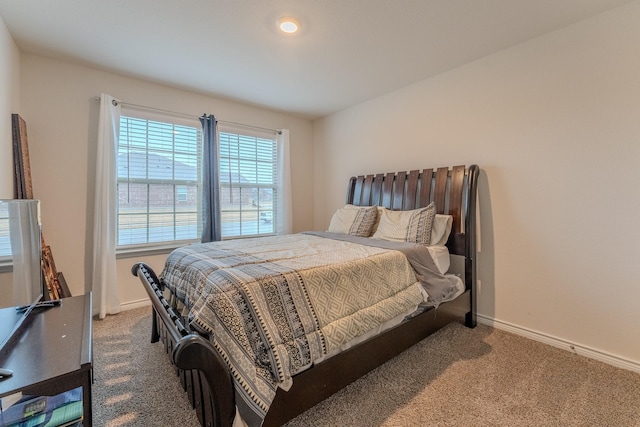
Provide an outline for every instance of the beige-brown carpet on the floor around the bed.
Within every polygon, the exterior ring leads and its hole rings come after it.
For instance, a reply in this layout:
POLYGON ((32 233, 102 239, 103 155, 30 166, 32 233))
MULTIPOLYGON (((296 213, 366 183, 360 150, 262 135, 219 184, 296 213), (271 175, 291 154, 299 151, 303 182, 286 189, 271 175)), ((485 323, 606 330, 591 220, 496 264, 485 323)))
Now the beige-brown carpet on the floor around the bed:
MULTIPOLYGON (((197 426, 150 308, 94 321, 94 425, 197 426)), ((640 375, 484 325, 450 325, 290 421, 309 426, 636 426, 640 375)))

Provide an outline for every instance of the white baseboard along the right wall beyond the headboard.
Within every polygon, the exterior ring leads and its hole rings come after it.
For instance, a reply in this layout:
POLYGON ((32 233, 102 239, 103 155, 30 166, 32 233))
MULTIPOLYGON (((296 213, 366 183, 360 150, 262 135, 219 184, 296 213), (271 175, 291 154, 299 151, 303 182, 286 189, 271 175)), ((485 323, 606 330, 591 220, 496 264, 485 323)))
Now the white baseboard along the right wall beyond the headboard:
POLYGON ((560 338, 556 338, 551 335, 543 334, 531 329, 526 329, 521 326, 517 326, 511 323, 503 322, 501 320, 492 319, 487 316, 478 314, 478 323, 501 329, 506 332, 510 332, 515 335, 520 335, 525 338, 532 339, 544 344, 548 344, 553 347, 560 348, 562 350, 570 351, 571 353, 585 356, 590 359, 598 360, 608 365, 615 366, 617 368, 627 369, 629 371, 640 373, 640 363, 633 360, 628 360, 620 356, 605 353, 594 348, 586 347, 583 345, 575 344, 570 341, 566 341, 560 338))

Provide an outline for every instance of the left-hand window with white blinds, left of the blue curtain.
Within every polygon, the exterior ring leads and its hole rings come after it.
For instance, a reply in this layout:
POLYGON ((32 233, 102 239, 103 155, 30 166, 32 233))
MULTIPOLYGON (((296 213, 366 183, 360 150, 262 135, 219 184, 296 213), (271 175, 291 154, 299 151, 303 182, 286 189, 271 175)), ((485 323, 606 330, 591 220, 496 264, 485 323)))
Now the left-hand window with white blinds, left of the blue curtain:
POLYGON ((199 240, 202 130, 123 111, 118 144, 118 248, 199 240))

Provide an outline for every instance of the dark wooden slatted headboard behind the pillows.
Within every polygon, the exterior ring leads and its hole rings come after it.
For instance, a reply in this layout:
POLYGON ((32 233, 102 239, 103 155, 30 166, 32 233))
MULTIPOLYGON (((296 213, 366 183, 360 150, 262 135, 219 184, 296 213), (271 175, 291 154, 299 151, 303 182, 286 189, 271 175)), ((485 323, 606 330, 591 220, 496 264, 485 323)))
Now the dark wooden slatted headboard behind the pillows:
MULTIPOLYGON (((476 197, 479 168, 454 166, 352 177, 347 203, 411 210, 434 202, 436 213, 453 216, 449 252, 466 258, 467 288, 475 280, 476 197), (473 270, 473 271, 467 271, 473 270)), ((475 283, 475 282, 474 282, 475 283)))

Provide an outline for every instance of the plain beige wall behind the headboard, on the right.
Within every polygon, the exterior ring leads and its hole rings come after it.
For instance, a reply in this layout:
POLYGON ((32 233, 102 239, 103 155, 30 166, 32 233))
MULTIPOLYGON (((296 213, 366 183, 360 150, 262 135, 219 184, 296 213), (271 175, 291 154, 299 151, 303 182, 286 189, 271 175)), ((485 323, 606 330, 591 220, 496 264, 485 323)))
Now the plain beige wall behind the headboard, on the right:
POLYGON ((481 166, 479 312, 640 367, 640 2, 314 123, 315 228, 351 175, 481 166))

